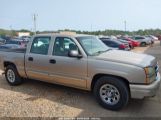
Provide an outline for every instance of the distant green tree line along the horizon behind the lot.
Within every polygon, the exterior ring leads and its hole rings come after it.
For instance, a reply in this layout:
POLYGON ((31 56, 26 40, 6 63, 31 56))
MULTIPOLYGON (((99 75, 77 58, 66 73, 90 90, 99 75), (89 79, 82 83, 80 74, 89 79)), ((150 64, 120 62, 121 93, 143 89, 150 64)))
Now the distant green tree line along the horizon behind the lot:
MULTIPOLYGON (((76 32, 78 34, 90 34, 90 35, 161 35, 161 29, 145 29, 145 30, 137 30, 137 31, 121 31, 121 30, 98 30, 98 31, 80 31, 80 30, 58 30, 58 31, 37 31, 37 33, 53 33, 60 31, 71 31, 76 32)), ((30 32, 33 35, 33 32, 30 30, 22 29, 22 30, 5 30, 0 29, 0 36, 16 36, 17 32, 30 32)))

